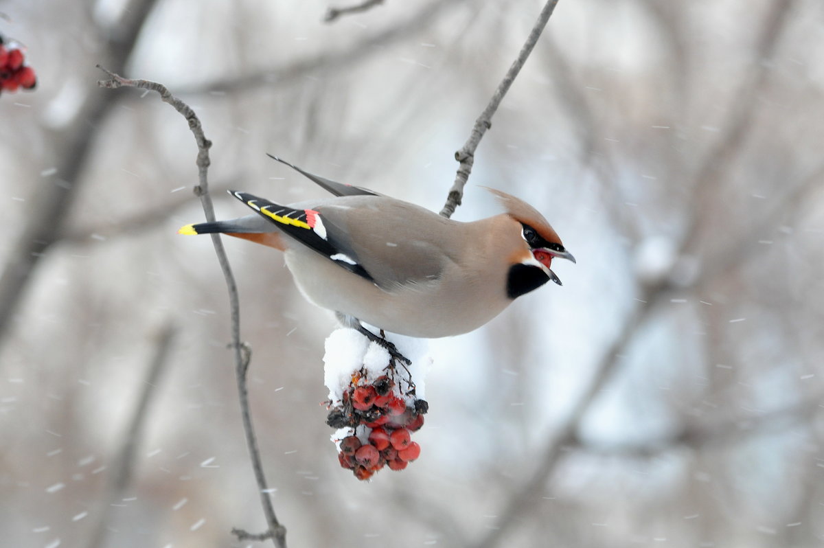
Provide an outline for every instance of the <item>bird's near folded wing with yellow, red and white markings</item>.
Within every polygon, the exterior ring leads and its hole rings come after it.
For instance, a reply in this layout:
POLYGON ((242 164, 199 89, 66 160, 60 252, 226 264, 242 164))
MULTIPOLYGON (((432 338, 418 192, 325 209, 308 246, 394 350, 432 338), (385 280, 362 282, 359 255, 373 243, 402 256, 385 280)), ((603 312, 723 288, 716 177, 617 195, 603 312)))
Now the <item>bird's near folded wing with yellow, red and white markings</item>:
POLYGON ((451 260, 426 226, 427 220, 438 225, 445 219, 396 199, 352 196, 297 209, 230 193, 289 237, 387 291, 435 283, 451 260), (410 228, 410 220, 419 230, 410 228))

